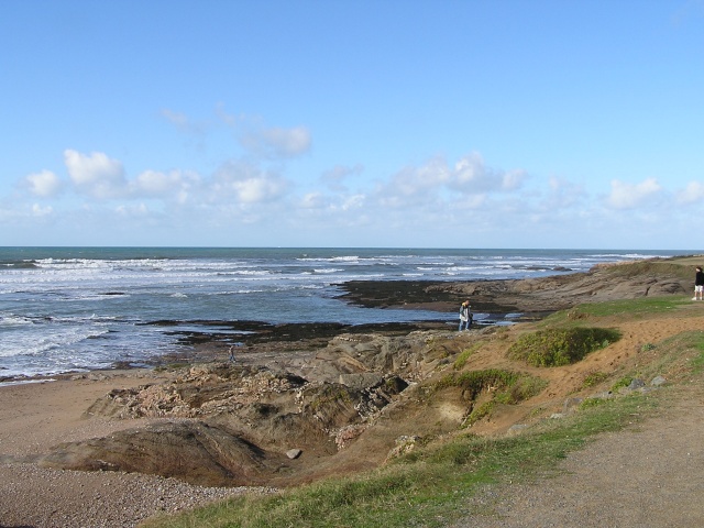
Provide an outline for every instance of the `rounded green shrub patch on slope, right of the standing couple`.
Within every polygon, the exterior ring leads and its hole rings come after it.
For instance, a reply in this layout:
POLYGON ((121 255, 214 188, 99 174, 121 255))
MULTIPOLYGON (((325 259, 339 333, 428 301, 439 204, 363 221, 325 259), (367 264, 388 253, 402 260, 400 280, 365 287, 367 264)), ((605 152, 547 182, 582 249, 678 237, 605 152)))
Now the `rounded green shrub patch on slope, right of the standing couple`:
POLYGON ((521 336, 508 349, 508 358, 534 366, 562 366, 618 341, 620 333, 607 328, 552 328, 521 336))

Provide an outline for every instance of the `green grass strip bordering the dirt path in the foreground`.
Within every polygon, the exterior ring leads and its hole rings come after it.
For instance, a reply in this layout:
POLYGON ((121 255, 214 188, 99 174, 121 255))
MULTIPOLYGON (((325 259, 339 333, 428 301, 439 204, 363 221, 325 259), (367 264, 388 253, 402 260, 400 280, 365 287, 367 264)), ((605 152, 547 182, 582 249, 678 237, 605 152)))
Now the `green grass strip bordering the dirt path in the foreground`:
POLYGON ((270 496, 250 495, 176 516, 148 528, 441 527, 476 514, 471 497, 485 484, 527 482, 557 471, 566 453, 597 432, 618 430, 656 408, 634 395, 548 420, 519 437, 461 436, 362 475, 321 481, 270 496))

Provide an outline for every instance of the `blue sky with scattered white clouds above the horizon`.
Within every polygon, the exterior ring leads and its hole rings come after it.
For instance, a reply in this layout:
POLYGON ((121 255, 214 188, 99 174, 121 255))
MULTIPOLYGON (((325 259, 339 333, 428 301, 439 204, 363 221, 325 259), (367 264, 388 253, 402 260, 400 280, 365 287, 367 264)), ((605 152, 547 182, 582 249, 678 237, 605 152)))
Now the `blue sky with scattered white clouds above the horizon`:
POLYGON ((0 245, 704 245, 704 0, 4 0, 0 72, 0 245))

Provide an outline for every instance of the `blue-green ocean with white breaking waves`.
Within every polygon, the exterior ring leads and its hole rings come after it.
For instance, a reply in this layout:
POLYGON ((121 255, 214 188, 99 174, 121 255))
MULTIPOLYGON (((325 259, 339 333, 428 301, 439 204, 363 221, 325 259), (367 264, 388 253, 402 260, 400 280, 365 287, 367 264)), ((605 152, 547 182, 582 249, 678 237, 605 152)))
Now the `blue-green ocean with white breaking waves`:
MULTIPOLYGON (((584 272, 686 251, 0 248, 0 377, 139 365, 199 321, 348 324, 450 314, 351 306, 348 280, 476 280, 584 272), (176 321, 176 326, 148 324, 176 321)), ((479 315, 481 319, 482 315, 479 315)), ((212 328, 210 328, 212 330, 212 328)))

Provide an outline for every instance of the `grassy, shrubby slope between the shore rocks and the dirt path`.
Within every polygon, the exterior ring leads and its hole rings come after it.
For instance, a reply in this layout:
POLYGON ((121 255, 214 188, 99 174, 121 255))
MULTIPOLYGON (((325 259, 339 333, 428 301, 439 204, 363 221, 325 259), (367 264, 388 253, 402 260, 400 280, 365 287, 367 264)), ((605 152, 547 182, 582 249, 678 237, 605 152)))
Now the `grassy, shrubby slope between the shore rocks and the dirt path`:
POLYGON ((428 436, 405 454, 389 458, 371 471, 327 477, 271 494, 248 494, 153 518, 142 526, 443 527, 470 515, 493 515, 481 498, 486 486, 534 482, 559 473, 560 461, 595 435, 634 427, 653 414, 668 413, 673 398, 686 385, 684 382, 701 382, 703 331, 676 331, 659 340, 644 337, 640 342, 626 339, 634 333, 628 327, 634 321, 647 327, 662 323, 662 317, 684 321, 698 317, 698 307, 688 299, 644 297, 584 304, 527 324, 526 331, 512 337, 507 332, 487 332, 449 358, 449 372, 439 372, 432 380, 432 391, 424 393, 426 406, 433 397, 450 397, 449 391, 462 394, 471 402, 464 427, 428 436), (620 339, 631 344, 624 348, 620 339), (544 359, 529 359, 540 358, 537 351, 541 349, 548 351, 544 359), (580 381, 572 391, 583 397, 600 391, 612 396, 576 398, 582 404, 575 411, 550 419, 540 398, 556 383, 549 376, 520 369, 476 367, 479 355, 496 354, 498 350, 504 351, 504 362, 538 365, 537 373, 551 372, 544 369, 548 366, 574 369, 586 358, 602 354, 601 364, 606 366, 573 371, 580 381), (664 375, 668 383, 658 391, 626 389, 634 380, 659 375, 664 375), (527 406, 520 415, 521 422, 529 426, 519 433, 477 433, 481 429, 475 425, 499 420, 499 409, 520 405, 527 406))

